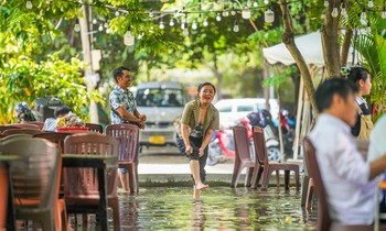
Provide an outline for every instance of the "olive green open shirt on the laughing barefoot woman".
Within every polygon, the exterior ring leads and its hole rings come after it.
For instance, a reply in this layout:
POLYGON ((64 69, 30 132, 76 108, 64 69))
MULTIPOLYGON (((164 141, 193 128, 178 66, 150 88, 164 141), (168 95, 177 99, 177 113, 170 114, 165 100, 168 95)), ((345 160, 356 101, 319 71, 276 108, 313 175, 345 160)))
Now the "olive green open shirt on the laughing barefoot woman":
MULTIPOLYGON (((200 100, 192 100, 185 105, 185 108, 182 112, 182 118, 179 125, 179 135, 181 136, 181 123, 187 124, 190 131, 194 129, 197 124, 200 114, 200 100)), ((207 108, 204 122, 202 124, 204 136, 208 129, 218 130, 219 129, 219 117, 218 110, 211 103, 207 108)))

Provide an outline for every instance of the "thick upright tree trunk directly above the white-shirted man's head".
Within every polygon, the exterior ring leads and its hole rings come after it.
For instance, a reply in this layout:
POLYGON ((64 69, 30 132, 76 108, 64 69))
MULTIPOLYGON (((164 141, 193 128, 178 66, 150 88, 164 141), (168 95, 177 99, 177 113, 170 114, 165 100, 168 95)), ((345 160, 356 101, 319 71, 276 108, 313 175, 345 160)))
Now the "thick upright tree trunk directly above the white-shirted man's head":
MULTIPOLYGON (((331 15, 332 8, 335 6, 334 0, 329 0, 330 7, 326 8, 324 25, 321 29, 322 35, 322 47, 323 47, 323 57, 326 78, 339 77, 341 76, 341 55, 340 55, 340 45, 337 42, 337 24, 339 16, 333 18, 331 15)), ((340 1, 336 3, 340 6, 340 1)))

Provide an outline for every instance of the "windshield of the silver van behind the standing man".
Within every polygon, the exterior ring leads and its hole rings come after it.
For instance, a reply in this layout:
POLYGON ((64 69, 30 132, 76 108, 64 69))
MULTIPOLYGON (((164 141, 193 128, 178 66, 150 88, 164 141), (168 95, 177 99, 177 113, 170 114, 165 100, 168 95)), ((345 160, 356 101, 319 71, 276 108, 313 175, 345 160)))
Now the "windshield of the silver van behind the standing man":
POLYGON ((173 88, 138 89, 136 95, 139 107, 183 107, 183 92, 173 88))

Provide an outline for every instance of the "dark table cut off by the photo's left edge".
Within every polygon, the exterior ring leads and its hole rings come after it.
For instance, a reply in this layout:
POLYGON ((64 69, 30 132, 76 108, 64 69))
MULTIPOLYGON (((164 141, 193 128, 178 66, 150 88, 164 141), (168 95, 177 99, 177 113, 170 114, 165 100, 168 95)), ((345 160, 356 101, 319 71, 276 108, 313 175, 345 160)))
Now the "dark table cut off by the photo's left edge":
MULTIPOLYGON (((8 177, 8 209, 7 209, 7 230, 17 230, 15 226, 15 210, 13 201, 13 185, 12 177, 10 174, 11 162, 19 160, 18 155, 0 155, 0 163, 6 167, 6 173, 8 177)), ((1 167, 1 166, 0 166, 1 167)))

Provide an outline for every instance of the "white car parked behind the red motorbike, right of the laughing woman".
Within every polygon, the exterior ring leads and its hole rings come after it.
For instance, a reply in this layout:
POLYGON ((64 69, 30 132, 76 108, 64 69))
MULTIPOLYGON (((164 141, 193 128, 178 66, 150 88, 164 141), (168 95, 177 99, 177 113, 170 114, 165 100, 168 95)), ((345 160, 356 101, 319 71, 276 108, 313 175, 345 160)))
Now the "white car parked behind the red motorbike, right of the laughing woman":
MULTIPOLYGON (((219 125, 230 128, 250 112, 266 109, 265 98, 244 98, 244 99, 222 99, 214 105, 219 112, 219 125)), ((269 99, 270 113, 272 119, 278 118, 279 105, 276 99, 269 99)))

